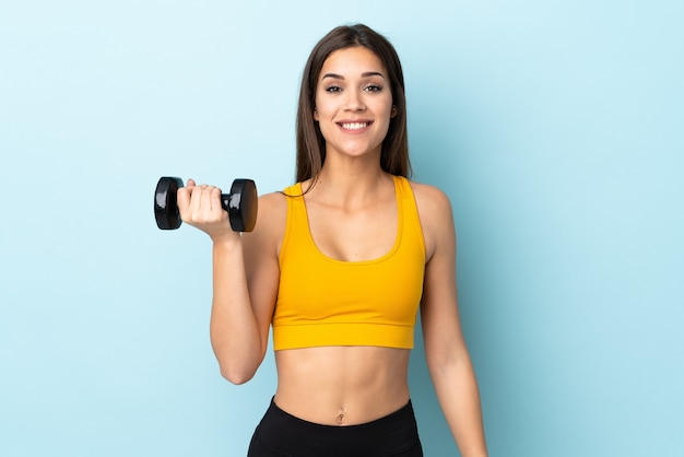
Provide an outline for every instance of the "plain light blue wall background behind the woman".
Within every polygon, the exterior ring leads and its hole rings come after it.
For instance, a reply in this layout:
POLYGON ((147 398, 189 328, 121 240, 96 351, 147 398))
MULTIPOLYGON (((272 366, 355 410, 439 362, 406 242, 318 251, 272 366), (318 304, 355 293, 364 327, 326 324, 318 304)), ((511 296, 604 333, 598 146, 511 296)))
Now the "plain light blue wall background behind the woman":
MULTIPOLYGON (((1 455, 245 454, 272 355, 221 378, 209 239, 153 188, 291 184, 302 68, 349 22, 399 50, 415 179, 453 203, 491 455, 684 455, 674 0, 3 2, 1 455)), ((457 455, 417 340, 426 455, 457 455)))

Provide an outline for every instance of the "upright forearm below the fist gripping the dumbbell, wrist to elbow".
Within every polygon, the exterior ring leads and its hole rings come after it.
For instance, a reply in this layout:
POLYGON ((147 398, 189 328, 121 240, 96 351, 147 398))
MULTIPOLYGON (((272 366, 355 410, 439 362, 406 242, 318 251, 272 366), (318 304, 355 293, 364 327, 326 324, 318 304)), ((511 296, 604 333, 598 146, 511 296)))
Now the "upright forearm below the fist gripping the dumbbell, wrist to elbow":
POLYGON ((210 335, 222 375, 234 384, 249 380, 267 343, 251 306, 239 238, 213 244, 210 335))

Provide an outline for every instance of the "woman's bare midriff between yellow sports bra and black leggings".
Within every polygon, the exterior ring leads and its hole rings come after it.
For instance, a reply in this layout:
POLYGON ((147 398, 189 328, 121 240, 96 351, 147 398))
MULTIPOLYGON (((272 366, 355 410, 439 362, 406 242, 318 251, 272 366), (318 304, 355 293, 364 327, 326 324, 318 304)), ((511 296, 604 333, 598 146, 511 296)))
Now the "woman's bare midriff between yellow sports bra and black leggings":
POLYGON ((275 405, 308 422, 356 425, 409 402, 406 349, 318 347, 275 351, 275 405))

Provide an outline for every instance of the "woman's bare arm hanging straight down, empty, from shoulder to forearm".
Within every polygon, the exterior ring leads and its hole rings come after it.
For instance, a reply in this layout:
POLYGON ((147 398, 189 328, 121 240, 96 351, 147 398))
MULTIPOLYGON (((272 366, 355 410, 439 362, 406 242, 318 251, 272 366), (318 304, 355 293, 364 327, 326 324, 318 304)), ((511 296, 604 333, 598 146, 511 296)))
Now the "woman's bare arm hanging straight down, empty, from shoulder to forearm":
POLYGON ((418 186, 416 200, 428 256, 421 304, 427 366, 461 454, 486 456, 480 392, 458 312, 451 204, 427 186, 418 186))

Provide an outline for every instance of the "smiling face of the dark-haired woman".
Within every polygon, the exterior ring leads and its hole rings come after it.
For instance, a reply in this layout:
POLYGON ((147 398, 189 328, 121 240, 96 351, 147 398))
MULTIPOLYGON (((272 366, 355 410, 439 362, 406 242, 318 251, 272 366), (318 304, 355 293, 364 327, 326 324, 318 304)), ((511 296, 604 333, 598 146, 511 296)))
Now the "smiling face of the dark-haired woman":
POLYGON ((316 86, 326 154, 380 156, 392 108, 392 91, 380 59, 363 46, 340 49, 323 62, 316 86))

